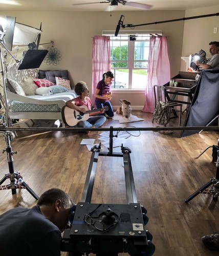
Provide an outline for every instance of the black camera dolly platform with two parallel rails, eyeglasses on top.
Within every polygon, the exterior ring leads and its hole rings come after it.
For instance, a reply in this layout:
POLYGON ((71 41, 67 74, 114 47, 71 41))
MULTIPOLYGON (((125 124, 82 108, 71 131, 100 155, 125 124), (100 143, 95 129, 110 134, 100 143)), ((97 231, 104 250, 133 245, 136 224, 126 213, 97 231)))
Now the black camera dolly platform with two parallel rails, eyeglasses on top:
MULTIPOLYGON (((145 230, 148 222, 147 210, 138 203, 128 147, 121 145, 122 153, 113 153, 113 127, 109 131, 109 152, 100 152, 99 146, 92 148, 81 202, 72 213, 72 226, 65 229, 62 251, 70 255, 98 256, 118 255, 128 252, 138 255, 140 251, 152 255, 155 251, 152 236, 145 230), (127 204, 91 204, 96 168, 99 156, 123 157, 127 204)), ((140 255, 140 254, 139 254, 140 255)))

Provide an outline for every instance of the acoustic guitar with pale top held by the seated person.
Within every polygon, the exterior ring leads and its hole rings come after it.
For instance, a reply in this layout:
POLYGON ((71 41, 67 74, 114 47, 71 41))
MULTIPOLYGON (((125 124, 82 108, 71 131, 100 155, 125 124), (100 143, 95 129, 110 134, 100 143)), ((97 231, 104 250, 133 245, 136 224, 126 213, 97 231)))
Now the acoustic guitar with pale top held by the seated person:
MULTIPOLYGON (((69 126, 74 126, 82 120, 85 121, 89 119, 90 114, 99 112, 102 110, 102 109, 87 110, 87 106, 85 105, 83 105, 83 108, 86 109, 85 113, 70 109, 68 106, 63 106, 63 108, 61 109, 61 116, 62 116, 63 122, 69 126)), ((107 111, 108 106, 103 106, 103 109, 104 111, 107 111)))

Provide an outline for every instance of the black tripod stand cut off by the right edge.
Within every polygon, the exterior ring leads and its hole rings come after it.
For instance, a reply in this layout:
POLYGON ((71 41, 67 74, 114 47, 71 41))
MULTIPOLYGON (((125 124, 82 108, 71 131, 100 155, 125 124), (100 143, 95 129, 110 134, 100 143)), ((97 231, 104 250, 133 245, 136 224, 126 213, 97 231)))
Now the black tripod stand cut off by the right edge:
POLYGON ((185 202, 188 203, 190 200, 192 200, 194 197, 198 196, 200 193, 213 195, 213 201, 217 201, 217 198, 219 196, 219 151, 217 151, 215 177, 211 178, 208 183, 206 183, 200 189, 195 191, 191 196, 189 196, 187 199, 185 199, 185 202), (210 185, 213 185, 213 188, 207 189, 210 185))

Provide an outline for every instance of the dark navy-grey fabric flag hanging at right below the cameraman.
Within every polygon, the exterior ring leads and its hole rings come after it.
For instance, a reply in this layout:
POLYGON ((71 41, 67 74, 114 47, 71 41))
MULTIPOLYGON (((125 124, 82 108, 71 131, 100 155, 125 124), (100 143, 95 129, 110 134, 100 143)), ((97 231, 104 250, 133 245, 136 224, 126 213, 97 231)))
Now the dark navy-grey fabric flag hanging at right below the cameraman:
MULTIPOLYGON (((217 125, 219 114, 219 69, 205 69, 199 78, 184 126, 217 125), (212 123, 211 123, 212 122, 212 123)), ((185 130, 180 137, 199 133, 200 130, 185 130)))

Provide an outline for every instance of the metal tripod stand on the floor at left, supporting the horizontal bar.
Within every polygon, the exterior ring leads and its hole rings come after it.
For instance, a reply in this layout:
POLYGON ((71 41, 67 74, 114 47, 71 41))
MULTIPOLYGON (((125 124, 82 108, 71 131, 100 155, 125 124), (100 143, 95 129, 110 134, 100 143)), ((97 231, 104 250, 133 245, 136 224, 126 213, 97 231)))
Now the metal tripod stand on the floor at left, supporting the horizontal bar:
POLYGON ((0 181, 0 190, 11 189, 12 195, 16 194, 16 189, 26 188, 28 192, 37 200, 39 197, 34 193, 34 191, 27 185, 27 183, 23 180, 19 172, 14 172, 13 167, 13 154, 17 154, 17 152, 13 152, 11 148, 11 141, 14 139, 14 134, 11 131, 6 131, 3 135, 3 139, 6 141, 6 150, 3 149, 3 153, 7 153, 7 161, 9 167, 9 174, 6 174, 4 178, 0 181), (7 179, 10 179, 9 185, 2 185, 7 179), (16 181, 16 180, 17 181, 16 181))

